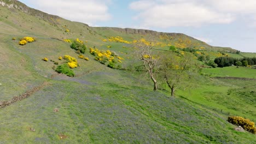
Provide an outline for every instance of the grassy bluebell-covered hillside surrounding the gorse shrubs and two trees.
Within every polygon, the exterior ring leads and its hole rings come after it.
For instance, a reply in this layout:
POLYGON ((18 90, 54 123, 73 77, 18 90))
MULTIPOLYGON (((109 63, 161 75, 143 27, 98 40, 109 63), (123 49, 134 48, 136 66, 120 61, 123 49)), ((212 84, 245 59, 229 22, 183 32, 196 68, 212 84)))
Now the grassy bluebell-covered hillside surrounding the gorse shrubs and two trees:
POLYGON ((160 50, 168 50, 168 44, 189 46, 215 53, 214 58, 217 48, 184 34, 89 27, 56 16, 43 19, 39 13, 0 6, 0 101, 42 86, 0 109, 0 143, 254 143, 255 135, 235 131, 226 121, 230 115, 255 121, 254 81, 203 75, 255 78, 255 70, 203 69, 192 87, 171 97, 167 88, 153 92, 151 81, 141 72, 111 69, 95 61, 89 48, 117 53, 124 58, 118 64, 125 69, 139 65, 129 43, 150 35, 160 50), (26 36, 37 40, 19 45, 26 36), (117 36, 129 43, 108 40, 117 36), (83 56, 89 61, 78 58, 63 41, 77 38, 86 41, 83 56), (73 69, 74 77, 54 70, 54 62, 65 63, 58 59, 65 55, 77 58, 80 65, 73 69), (42 61, 44 57, 49 61, 42 61))

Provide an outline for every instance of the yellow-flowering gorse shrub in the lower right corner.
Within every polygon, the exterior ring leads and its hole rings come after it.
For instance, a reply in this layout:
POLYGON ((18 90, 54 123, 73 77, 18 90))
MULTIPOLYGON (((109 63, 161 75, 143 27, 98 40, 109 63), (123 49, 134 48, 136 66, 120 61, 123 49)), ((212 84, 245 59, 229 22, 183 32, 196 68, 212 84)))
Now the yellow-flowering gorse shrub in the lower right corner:
POLYGON ((238 116, 228 117, 228 122, 241 126, 243 129, 249 131, 250 133, 256 134, 256 128, 254 122, 251 122, 249 119, 245 119, 238 116))

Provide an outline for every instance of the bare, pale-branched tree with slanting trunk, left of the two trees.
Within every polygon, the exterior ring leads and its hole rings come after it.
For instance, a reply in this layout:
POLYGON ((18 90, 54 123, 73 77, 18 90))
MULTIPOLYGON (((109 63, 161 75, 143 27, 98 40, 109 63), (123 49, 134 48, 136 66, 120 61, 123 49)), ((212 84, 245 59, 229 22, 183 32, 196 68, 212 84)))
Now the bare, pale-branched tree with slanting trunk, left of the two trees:
POLYGON ((155 79, 155 68, 158 65, 158 60, 154 57, 153 41, 146 41, 144 39, 135 43, 137 49, 137 57, 139 61, 143 62, 144 68, 148 71, 150 79, 154 82, 154 91, 158 89, 158 81, 155 79))

